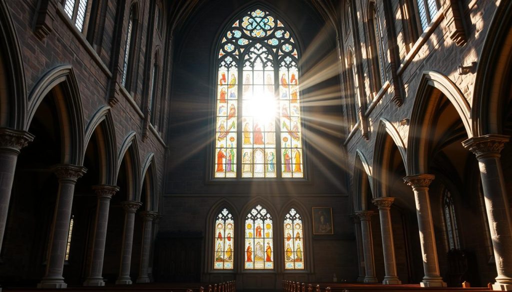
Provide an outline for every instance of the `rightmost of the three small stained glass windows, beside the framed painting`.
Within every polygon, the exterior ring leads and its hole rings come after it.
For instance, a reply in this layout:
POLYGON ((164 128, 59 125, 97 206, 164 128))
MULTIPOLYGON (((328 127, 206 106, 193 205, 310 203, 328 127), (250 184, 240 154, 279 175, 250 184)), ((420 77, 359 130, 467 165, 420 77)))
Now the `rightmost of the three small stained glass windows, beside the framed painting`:
POLYGON ((304 269, 304 228, 301 215, 291 209, 284 221, 285 269, 304 269))

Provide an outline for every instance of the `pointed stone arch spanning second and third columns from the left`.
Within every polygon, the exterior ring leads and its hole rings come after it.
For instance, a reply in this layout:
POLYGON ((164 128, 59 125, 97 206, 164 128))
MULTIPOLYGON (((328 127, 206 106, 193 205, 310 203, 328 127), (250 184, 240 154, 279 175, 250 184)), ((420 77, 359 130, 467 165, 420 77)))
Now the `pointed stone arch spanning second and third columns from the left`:
POLYGON ((98 144, 100 144, 99 155, 103 163, 100 167, 100 183, 113 186, 116 184, 117 179, 117 143, 110 106, 100 107, 87 124, 84 138, 86 148, 96 130, 98 130, 98 134, 100 135, 100 137, 97 138, 98 144))

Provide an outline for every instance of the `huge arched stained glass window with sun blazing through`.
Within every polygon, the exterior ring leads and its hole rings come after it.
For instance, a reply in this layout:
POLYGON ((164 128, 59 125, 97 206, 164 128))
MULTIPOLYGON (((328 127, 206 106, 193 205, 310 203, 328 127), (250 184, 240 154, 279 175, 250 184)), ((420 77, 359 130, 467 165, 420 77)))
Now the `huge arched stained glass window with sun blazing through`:
POLYGON ((255 9, 233 21, 218 52, 214 177, 304 177, 293 35, 255 9))

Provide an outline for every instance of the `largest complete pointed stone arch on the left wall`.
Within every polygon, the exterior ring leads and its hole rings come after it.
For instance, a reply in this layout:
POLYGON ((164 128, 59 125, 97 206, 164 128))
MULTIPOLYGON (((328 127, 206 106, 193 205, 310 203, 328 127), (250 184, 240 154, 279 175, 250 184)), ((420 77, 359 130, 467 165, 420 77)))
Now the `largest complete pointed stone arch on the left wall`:
POLYGON ((60 65, 45 74, 29 95, 25 130, 43 99, 54 92, 59 122, 63 130, 61 163, 82 165, 84 147, 83 112, 78 83, 70 65, 60 65))

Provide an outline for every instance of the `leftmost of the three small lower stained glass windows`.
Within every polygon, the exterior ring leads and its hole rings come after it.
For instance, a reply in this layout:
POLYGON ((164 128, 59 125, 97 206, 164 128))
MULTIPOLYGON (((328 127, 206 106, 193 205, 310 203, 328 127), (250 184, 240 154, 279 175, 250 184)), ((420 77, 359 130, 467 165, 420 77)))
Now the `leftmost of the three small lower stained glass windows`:
POLYGON ((223 209, 215 221, 214 269, 233 269, 234 221, 227 209, 223 209))

